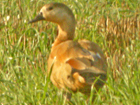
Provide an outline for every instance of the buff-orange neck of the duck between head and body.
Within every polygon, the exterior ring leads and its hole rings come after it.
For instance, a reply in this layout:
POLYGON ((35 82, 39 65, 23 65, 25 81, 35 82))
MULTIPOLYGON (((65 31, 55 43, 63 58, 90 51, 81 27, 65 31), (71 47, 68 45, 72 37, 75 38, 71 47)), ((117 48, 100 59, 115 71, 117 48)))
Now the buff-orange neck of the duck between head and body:
POLYGON ((53 46, 67 40, 73 40, 75 32, 75 19, 67 18, 64 22, 58 24, 58 36, 55 39, 53 46))

